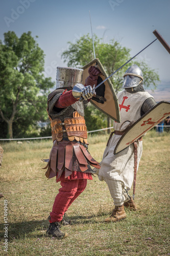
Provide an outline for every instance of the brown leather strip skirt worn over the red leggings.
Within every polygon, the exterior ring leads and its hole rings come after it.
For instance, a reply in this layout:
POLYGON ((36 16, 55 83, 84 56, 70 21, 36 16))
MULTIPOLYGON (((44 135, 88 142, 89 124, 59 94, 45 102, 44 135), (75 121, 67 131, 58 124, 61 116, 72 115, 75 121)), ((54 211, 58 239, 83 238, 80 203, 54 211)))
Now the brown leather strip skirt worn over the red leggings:
POLYGON ((55 140, 50 153, 49 159, 43 159, 48 162, 43 169, 47 169, 45 176, 57 179, 65 172, 65 178, 72 172, 94 173, 90 165, 100 168, 99 162, 95 161, 88 153, 82 143, 77 141, 55 140))

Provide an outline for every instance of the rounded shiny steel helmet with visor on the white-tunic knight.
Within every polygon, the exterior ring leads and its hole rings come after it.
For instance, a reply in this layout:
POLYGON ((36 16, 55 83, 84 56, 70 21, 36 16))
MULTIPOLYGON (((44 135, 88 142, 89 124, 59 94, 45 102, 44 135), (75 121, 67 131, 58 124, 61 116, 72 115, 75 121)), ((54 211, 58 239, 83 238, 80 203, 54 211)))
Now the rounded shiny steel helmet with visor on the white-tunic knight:
POLYGON ((136 87, 143 81, 141 69, 135 64, 132 65, 124 74, 123 88, 136 87))

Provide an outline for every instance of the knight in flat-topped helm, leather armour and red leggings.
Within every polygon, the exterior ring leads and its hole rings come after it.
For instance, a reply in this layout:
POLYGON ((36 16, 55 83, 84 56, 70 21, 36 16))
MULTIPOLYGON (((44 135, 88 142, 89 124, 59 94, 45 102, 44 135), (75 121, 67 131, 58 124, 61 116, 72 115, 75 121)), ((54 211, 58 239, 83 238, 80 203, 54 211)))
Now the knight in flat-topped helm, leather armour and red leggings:
POLYGON ((48 95, 47 113, 51 121, 53 147, 45 168, 46 177, 56 177, 61 188, 48 217, 50 226, 46 233, 55 238, 64 238, 60 224, 69 224, 63 219, 72 202, 84 191, 87 180, 92 180, 90 165, 100 168, 87 151, 87 127, 84 110, 95 95, 99 70, 91 68, 90 75, 82 84, 82 69, 57 68, 56 90, 48 95), (90 86, 89 80, 93 81, 90 86), (82 99, 82 100, 81 100, 82 99), (60 223, 60 224, 59 224, 60 223))

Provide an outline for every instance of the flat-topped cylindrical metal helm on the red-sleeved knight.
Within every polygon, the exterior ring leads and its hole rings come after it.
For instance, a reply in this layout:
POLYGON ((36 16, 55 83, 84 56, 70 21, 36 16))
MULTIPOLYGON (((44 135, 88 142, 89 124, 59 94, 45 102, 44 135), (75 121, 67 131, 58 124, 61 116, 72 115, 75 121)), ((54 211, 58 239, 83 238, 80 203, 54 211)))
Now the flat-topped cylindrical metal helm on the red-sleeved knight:
POLYGON ((56 89, 72 87, 82 83, 83 69, 57 67, 56 89))

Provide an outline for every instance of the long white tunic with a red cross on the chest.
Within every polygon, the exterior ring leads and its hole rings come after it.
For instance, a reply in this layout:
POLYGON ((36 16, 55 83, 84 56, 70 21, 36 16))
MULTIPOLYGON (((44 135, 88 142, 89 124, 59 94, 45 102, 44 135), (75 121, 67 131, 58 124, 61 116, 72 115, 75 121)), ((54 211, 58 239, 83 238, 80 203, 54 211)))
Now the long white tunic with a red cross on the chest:
MULTIPOLYGON (((117 98, 121 122, 114 122, 114 130, 123 131, 131 121, 138 120, 143 102, 150 97, 152 96, 148 92, 128 93, 125 90, 119 92, 117 98)), ((132 186, 134 175, 134 145, 132 143, 125 150, 114 155, 114 148, 120 137, 121 135, 113 135, 108 146, 106 146, 98 177, 100 180, 104 180, 107 177, 108 179, 122 181, 129 190, 132 186)), ((142 141, 138 141, 137 151, 138 168, 142 154, 142 141)))

